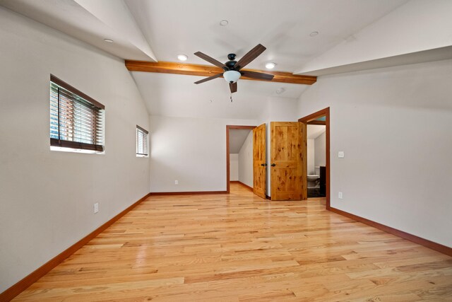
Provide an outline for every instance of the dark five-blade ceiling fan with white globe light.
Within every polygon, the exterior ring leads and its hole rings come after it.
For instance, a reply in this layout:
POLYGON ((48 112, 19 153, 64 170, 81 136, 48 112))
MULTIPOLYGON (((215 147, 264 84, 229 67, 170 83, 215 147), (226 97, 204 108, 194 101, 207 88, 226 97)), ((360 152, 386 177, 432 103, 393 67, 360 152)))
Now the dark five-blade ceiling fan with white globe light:
POLYGON ((213 79, 217 79, 220 76, 223 76, 227 83, 229 83, 229 87, 231 90, 231 93, 234 93, 237 91, 237 81, 240 79, 240 76, 246 76, 247 78, 251 79, 259 79, 259 80, 265 80, 265 81, 271 81, 273 79, 272 74, 263 74, 262 72, 257 71, 247 71, 247 70, 241 70, 249 64, 251 61, 256 59, 264 50, 266 50, 266 47, 264 47, 261 44, 258 44, 256 47, 254 47, 252 50, 250 50, 248 53, 246 53, 242 59, 239 59, 239 61, 235 61, 235 54, 228 54, 227 61, 225 64, 222 64, 221 62, 217 61, 216 59, 213 59, 213 57, 209 57, 207 54, 203 54, 202 52, 195 52, 194 54, 201 59, 206 60, 207 62, 214 64, 215 66, 218 66, 224 70, 221 74, 215 74, 215 76, 209 76, 206 79, 202 79, 200 81, 196 81, 195 84, 201 84, 206 81, 210 81, 213 79))

